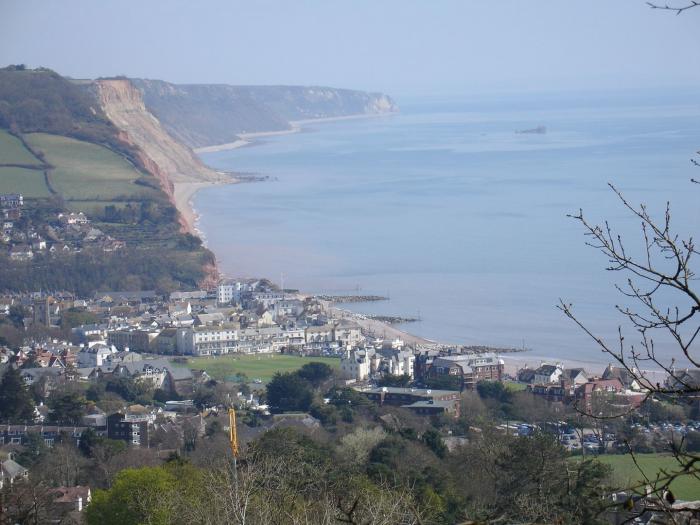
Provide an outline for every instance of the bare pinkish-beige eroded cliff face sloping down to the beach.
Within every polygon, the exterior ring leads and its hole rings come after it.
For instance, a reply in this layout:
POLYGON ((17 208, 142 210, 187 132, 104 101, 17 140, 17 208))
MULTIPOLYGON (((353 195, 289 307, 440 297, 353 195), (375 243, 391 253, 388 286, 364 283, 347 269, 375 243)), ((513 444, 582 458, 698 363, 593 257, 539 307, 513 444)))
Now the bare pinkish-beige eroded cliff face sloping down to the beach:
POLYGON ((96 87, 102 110, 122 138, 139 148, 144 165, 170 196, 177 182, 218 182, 226 178, 207 168, 190 148, 163 129, 129 80, 98 80, 96 87))

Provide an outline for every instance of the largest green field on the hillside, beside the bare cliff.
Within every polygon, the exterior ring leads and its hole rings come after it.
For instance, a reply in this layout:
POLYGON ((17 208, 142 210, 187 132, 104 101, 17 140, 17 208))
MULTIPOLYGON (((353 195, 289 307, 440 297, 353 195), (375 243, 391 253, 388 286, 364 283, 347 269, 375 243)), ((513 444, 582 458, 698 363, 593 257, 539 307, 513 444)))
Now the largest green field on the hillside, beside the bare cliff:
MULTIPOLYGON (((31 133, 25 139, 55 166, 50 174, 51 185, 67 201, 107 201, 155 193, 134 184, 140 173, 103 146, 46 133, 31 133)), ((79 208, 80 204, 72 207, 79 208)))

